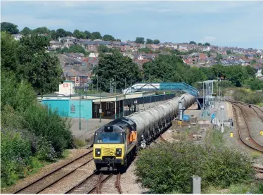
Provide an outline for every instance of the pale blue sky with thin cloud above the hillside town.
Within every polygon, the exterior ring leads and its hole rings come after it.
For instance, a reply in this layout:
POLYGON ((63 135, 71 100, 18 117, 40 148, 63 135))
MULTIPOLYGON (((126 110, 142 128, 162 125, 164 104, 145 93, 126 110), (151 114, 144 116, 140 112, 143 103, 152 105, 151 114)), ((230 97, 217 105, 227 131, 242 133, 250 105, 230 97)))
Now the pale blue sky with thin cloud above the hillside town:
POLYGON ((263 49, 263 1, 1 1, 1 22, 263 49))

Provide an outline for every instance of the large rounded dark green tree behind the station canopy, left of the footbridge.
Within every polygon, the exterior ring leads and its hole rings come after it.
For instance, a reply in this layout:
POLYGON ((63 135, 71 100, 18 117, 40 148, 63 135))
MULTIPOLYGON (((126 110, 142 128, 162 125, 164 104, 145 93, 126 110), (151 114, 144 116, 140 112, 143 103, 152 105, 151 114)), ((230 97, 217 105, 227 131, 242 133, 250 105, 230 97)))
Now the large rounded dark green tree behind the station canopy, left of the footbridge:
MULTIPOLYGON (((138 82, 141 80, 138 65, 132 62, 131 58, 122 56, 120 52, 113 51, 113 54, 101 55, 98 66, 94 69, 94 75, 98 75, 98 86, 101 84, 101 90, 110 92, 110 79, 116 80, 117 89, 124 89, 125 79, 127 83, 138 82)), ((92 77, 92 82, 97 83, 97 77, 92 77)), ((114 86, 114 85, 113 85, 114 86)))

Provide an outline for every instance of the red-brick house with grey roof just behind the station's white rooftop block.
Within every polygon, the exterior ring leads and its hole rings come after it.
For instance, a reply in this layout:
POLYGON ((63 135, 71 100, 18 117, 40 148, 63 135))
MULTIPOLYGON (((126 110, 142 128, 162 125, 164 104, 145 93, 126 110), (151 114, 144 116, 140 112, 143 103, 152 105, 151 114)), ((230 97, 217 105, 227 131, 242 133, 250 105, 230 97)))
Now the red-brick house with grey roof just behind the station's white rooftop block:
POLYGON ((75 86, 84 87, 88 82, 88 75, 79 73, 71 67, 65 67, 63 69, 63 78, 66 81, 74 81, 75 86))

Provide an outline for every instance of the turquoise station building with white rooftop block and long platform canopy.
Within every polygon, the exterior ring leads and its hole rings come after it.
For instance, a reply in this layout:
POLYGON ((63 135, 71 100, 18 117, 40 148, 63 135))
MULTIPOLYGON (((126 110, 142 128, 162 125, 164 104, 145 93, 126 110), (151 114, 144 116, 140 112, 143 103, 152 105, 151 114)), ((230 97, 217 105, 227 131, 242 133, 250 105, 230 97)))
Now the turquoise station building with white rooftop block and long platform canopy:
POLYGON ((38 96, 44 106, 57 110, 68 118, 120 118, 139 110, 144 103, 153 103, 174 98, 175 94, 155 95, 155 92, 129 94, 99 93, 76 94, 75 82, 65 81, 59 85, 59 92, 38 96))

